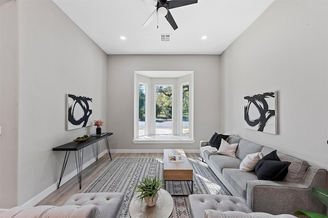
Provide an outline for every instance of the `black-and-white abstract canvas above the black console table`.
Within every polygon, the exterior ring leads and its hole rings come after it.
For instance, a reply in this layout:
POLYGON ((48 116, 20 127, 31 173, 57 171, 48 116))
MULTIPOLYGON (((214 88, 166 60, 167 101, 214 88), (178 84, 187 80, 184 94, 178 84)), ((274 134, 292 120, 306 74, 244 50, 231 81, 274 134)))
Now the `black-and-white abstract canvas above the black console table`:
POLYGON ((67 94, 66 130, 92 125, 92 99, 85 96, 67 94))

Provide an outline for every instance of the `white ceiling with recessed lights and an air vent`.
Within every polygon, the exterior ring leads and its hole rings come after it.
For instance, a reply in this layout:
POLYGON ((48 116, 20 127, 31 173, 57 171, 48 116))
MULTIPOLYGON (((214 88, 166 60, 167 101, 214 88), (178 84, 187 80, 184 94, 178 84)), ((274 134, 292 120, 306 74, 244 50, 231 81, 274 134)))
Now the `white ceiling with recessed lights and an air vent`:
POLYGON ((221 54, 273 1, 198 0, 170 10, 174 31, 164 17, 142 27, 156 9, 142 0, 53 0, 107 54, 150 55, 221 54))

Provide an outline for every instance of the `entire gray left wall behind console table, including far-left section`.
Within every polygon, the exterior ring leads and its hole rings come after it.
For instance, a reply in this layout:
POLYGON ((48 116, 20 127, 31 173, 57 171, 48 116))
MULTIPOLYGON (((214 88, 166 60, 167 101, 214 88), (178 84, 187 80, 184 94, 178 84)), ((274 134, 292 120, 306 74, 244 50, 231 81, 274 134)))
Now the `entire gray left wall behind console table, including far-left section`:
MULTIPOLYGON (((52 148, 77 136, 95 133, 93 126, 66 131, 66 94, 91 96, 93 118, 107 120, 107 55, 52 1, 11 1, 7 4, 2 6, 2 21, 4 18, 18 20, 12 21, 12 28, 18 30, 18 35, 17 40, 13 39, 10 48, 13 51, 9 53, 15 57, 15 47, 19 48, 17 63, 15 58, 11 61, 18 66, 18 76, 10 75, 15 71, 14 67, 10 70, 1 68, 1 78, 6 78, 6 85, 15 87, 14 93, 9 92, 11 89, 8 93, 13 96, 11 101, 16 102, 15 105, 5 105, 7 92, 3 87, 0 100, 1 106, 9 107, 10 111, 15 112, 18 108, 18 117, 15 113, 18 125, 16 128, 7 126, 12 122, 12 114, 1 108, 0 175, 2 179, 13 180, 9 188, 5 182, 0 184, 0 208, 22 205, 55 190, 65 152, 53 152, 52 148), (18 14, 3 13, 7 4, 11 4, 10 8, 18 14), (14 78, 9 81, 8 75, 14 78), (12 141, 5 140, 7 134, 12 136, 12 141), (3 159, 4 155, 10 155, 10 158, 3 159), (9 167, 5 168, 3 164, 9 167)), ((3 34, 5 25, 4 22, 1 24, 3 34)), ((3 40, 1 45, 5 43, 3 40)), ((2 65, 4 59, 1 60, 2 65)), ((106 131, 106 126, 103 131, 106 131)), ((104 150, 103 144, 101 151, 104 150)), ((85 149, 84 162, 93 158, 91 147, 85 149)), ((71 172, 76 173, 73 154, 64 176, 71 172)), ((33 201, 28 204, 33 204, 33 201)))

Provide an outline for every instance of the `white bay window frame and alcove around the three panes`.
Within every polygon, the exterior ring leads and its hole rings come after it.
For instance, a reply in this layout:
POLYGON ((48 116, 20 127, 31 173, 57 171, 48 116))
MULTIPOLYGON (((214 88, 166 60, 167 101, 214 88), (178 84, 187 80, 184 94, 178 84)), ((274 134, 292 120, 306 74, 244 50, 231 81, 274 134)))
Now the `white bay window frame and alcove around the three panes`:
POLYGON ((194 143, 193 134, 193 71, 135 71, 134 75, 134 139, 133 143, 194 143), (147 80, 147 81, 146 81, 147 80), (175 82, 170 82, 175 81, 175 82), (146 89, 146 136, 138 137, 139 131, 139 83, 146 89), (183 85, 189 84, 189 135, 182 135, 183 85), (156 135, 155 86, 173 86, 172 135, 156 135), (151 88, 150 88, 151 87, 151 88), (176 90, 177 88, 178 90, 176 90), (153 93, 154 92, 154 93, 153 93), (147 120, 147 122, 146 122, 147 120))

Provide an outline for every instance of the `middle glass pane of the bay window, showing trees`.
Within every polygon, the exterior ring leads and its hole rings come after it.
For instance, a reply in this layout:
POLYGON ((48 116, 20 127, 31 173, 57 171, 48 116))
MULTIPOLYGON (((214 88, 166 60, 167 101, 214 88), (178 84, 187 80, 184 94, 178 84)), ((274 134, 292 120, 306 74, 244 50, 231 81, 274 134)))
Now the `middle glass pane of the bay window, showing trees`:
POLYGON ((156 135, 172 135, 172 86, 156 86, 156 135))

